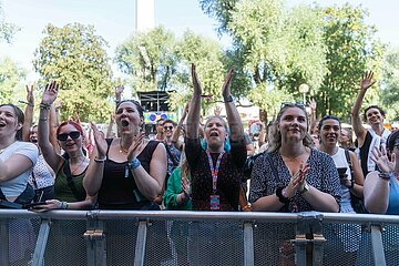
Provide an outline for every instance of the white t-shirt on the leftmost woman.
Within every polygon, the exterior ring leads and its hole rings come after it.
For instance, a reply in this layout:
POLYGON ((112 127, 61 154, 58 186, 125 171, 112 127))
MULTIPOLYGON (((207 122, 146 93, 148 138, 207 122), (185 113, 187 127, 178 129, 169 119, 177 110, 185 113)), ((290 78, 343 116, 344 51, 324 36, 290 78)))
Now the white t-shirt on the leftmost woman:
POLYGON ((24 191, 29 175, 37 163, 39 150, 32 143, 17 141, 3 150, 0 158, 4 162, 14 154, 21 154, 28 157, 32 162, 32 167, 9 181, 0 183, 0 188, 6 197, 18 197, 24 191))

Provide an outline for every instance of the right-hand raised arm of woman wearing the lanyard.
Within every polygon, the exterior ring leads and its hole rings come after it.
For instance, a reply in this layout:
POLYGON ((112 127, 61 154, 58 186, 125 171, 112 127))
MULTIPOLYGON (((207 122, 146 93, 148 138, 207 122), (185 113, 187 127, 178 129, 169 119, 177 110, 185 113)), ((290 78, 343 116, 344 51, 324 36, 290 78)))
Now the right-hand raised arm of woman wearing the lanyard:
POLYGON ((226 78, 225 82, 222 86, 222 96, 225 102, 226 114, 227 114, 227 123, 231 130, 231 139, 232 141, 239 141, 244 137, 244 126, 241 121, 238 111, 236 105, 234 104, 232 92, 231 92, 231 82, 234 74, 234 68, 232 68, 226 78))

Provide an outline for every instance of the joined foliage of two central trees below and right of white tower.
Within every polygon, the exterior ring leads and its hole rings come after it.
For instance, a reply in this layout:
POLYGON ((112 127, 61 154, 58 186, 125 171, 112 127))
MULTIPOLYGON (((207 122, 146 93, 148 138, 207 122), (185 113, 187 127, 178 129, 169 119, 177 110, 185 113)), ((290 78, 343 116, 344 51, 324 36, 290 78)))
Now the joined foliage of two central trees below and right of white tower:
POLYGON ((192 95, 191 63, 195 63, 204 94, 204 110, 221 100, 227 72, 217 42, 186 31, 181 40, 163 27, 139 33, 117 48, 115 61, 129 74, 135 91, 170 91, 172 110, 183 108, 192 95))

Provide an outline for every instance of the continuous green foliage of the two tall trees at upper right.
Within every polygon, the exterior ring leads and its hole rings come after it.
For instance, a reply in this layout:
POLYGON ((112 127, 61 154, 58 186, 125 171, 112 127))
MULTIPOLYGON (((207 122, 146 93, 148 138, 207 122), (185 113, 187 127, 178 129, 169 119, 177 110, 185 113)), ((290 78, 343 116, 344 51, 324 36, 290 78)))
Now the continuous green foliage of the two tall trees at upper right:
MULTIPOLYGON (((306 83, 319 115, 347 117, 361 73, 372 69, 375 78, 380 76, 385 47, 376 39, 375 27, 366 24, 368 13, 361 8, 344 4, 287 9, 282 0, 200 3, 204 12, 218 20, 218 31, 234 40, 233 49, 226 53, 227 61, 239 69, 233 91, 239 96, 248 94, 259 106, 269 101, 267 91, 260 89, 264 84, 270 84, 276 94, 282 90, 282 95, 290 93, 298 100, 298 86, 306 83)), ((379 89, 371 89, 365 104, 380 103, 379 94, 379 89)), ((272 105, 267 108, 273 113, 272 105)))

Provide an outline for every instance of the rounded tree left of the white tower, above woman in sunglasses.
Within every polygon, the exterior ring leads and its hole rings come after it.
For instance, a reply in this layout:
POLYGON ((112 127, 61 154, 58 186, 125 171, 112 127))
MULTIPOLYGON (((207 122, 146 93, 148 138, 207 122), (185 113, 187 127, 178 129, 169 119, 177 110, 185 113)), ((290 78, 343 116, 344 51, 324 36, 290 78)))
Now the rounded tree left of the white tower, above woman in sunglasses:
POLYGON ((44 34, 33 65, 42 85, 52 80, 61 84, 62 117, 106 121, 113 82, 104 39, 95 34, 92 25, 80 23, 62 28, 48 24, 44 34))

